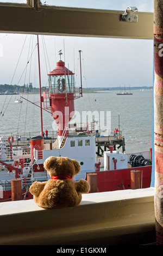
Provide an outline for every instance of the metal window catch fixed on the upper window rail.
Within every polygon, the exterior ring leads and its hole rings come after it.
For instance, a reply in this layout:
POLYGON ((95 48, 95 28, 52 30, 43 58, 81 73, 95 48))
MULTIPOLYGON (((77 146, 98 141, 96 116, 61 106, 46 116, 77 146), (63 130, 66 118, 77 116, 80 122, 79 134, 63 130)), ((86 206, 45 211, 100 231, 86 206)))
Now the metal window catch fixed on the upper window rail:
POLYGON ((121 14, 121 21, 126 21, 126 22, 137 22, 137 8, 136 7, 127 7, 126 11, 124 11, 123 14, 121 14))

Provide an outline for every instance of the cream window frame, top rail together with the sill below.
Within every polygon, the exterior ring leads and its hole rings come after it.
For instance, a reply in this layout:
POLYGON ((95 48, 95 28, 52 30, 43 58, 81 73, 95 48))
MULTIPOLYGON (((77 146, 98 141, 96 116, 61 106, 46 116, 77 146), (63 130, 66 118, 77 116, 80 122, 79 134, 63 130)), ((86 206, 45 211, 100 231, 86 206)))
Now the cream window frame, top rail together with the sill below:
MULTIPOLYGON (((153 13, 138 12, 139 22, 131 23, 120 21, 124 10, 48 7, 39 2, 0 3, 0 32, 153 40, 153 13)), ((2 203, 0 244, 60 245, 64 237, 65 242, 73 245, 79 245, 82 239, 88 245, 92 245, 89 240, 95 241, 95 245, 97 241, 116 245, 121 236, 123 241, 126 235, 129 244, 136 234, 141 242, 145 241, 142 234, 147 236, 155 231, 154 190, 117 193, 86 194, 79 207, 55 212, 37 208, 33 200, 2 203)))

